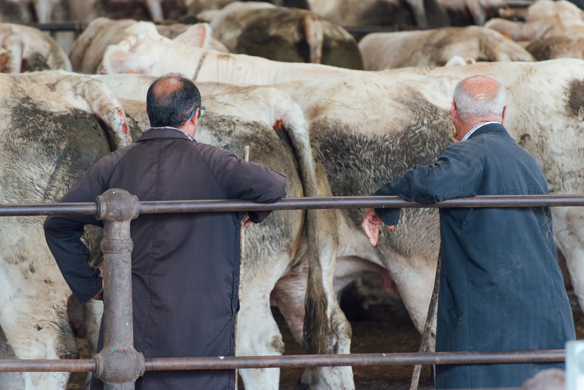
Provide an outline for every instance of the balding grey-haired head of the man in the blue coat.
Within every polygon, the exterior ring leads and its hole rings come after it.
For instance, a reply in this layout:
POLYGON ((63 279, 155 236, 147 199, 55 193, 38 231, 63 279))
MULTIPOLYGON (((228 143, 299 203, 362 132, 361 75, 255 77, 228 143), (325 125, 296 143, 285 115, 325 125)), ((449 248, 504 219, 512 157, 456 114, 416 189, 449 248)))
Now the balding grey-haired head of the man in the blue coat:
POLYGON ((501 122, 505 90, 494 78, 484 75, 467 77, 454 89, 454 105, 464 122, 493 120, 501 122))

